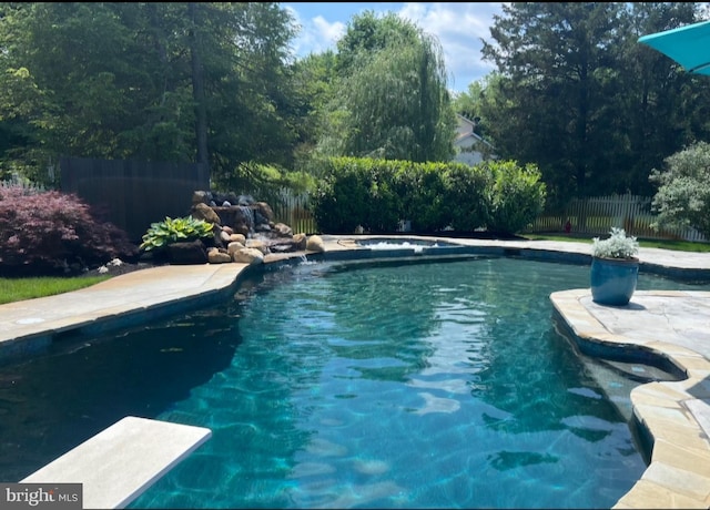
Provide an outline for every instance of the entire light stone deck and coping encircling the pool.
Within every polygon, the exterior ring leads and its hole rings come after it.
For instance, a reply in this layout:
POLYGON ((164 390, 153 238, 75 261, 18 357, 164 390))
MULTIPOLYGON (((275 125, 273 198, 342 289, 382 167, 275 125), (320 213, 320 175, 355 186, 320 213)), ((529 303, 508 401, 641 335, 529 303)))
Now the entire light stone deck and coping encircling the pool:
MULTIPOLYGON (((376 251, 356 239, 392 236, 322 238, 323 254, 267 255, 264 263, 304 255, 324 261, 358 259, 366 254, 373 258, 376 251)), ((578 264, 590 261, 590 246, 581 243, 407 238, 440 239, 474 254, 578 264)), ((403 256, 397 252, 395 255, 403 256)), ((460 255, 455 248, 448 253, 460 255)), ((641 277, 650 272, 710 282, 710 253, 640 248, 639 259, 641 277)), ((58 296, 0 305, 0 360, 47 351, 61 338, 140 326, 206 306, 233 294, 247 267, 236 263, 153 267, 58 296)), ((552 293, 550 300, 579 341, 669 359, 687 375, 682 380, 645 384, 631 391, 635 419, 652 451, 641 479, 613 508, 709 508, 710 292, 637 290, 622 307, 595 304, 588 288, 552 293)))

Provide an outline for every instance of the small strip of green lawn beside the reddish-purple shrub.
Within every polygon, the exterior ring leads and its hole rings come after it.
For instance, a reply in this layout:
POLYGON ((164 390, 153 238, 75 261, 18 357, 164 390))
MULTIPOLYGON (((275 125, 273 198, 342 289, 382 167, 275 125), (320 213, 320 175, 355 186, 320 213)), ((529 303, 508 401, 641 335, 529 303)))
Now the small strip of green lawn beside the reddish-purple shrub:
POLYGON ((0 278, 0 305, 68 293, 109 278, 110 276, 0 278))

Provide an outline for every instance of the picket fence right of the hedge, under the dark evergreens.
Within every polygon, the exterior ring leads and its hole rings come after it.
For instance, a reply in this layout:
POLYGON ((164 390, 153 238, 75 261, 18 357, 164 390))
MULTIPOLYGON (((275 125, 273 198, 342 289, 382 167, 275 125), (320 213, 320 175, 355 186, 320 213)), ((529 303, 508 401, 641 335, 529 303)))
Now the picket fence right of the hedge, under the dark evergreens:
POLYGON ((564 232, 568 220, 572 234, 602 236, 616 226, 637 237, 708 241, 694 228, 651 228, 656 220, 651 213, 651 198, 631 194, 575 198, 565 214, 544 213, 527 232, 564 232))

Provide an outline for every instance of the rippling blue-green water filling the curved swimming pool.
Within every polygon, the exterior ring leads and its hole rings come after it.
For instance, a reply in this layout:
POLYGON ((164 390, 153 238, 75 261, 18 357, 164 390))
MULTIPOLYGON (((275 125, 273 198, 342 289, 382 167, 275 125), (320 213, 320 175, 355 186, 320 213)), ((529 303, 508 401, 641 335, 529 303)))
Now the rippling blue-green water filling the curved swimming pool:
POLYGON ((130 508, 609 508, 646 465, 552 325, 549 294, 588 286, 506 257, 271 271, 0 369, 0 479, 135 415, 213 437, 130 508))

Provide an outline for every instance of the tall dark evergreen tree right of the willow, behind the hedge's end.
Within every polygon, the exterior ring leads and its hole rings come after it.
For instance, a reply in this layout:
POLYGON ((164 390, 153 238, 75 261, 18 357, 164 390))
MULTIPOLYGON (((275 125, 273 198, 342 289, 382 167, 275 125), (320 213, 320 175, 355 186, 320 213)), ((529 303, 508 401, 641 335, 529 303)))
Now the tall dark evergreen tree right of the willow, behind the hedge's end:
MULTIPOLYGON (((584 194, 592 162, 606 151, 595 145, 595 105, 608 100, 599 75, 609 72, 616 43, 615 3, 504 6, 484 42, 503 79, 497 94, 495 145, 504 157, 535 162, 562 195, 584 194), (510 133, 506 137, 505 133, 510 133)), ((493 112, 488 112, 491 114, 493 112)))

